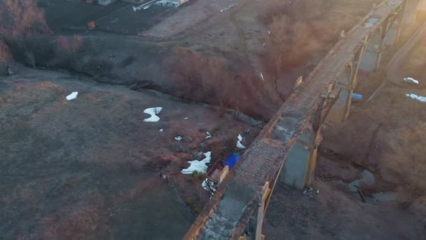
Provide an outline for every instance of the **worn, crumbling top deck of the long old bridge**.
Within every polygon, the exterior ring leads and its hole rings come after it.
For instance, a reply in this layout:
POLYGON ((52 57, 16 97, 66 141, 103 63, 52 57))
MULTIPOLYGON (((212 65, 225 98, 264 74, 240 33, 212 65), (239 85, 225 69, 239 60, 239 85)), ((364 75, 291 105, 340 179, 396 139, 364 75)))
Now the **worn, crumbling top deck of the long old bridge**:
POLYGON ((241 236, 259 203, 263 185, 273 180, 277 170, 283 166, 289 149, 320 103, 322 93, 327 93, 329 84, 336 82, 370 32, 402 2, 394 0, 380 4, 363 20, 370 17, 380 19, 375 26, 357 25, 338 41, 247 149, 236 170, 209 201, 185 239, 236 239, 241 236))

